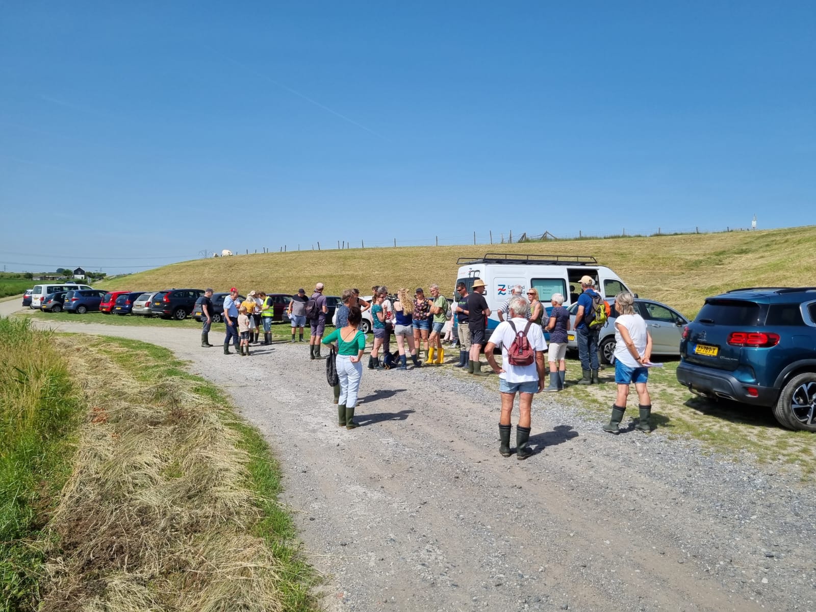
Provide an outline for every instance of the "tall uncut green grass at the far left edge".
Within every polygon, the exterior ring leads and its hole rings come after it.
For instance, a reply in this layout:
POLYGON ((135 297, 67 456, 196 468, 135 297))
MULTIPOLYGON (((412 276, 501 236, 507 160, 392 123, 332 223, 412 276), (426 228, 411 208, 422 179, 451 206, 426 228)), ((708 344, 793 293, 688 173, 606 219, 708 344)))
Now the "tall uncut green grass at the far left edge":
POLYGON ((82 408, 53 334, 0 318, 0 355, 0 610, 34 610, 82 408))

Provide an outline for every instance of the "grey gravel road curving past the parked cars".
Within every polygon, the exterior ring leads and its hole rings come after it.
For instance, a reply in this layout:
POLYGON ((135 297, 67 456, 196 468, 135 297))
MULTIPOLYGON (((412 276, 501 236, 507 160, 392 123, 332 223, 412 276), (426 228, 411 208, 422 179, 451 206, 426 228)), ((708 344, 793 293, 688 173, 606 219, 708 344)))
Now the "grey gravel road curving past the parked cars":
POLYGON ((504 459, 498 393, 450 366, 364 370, 347 431, 305 344, 227 357, 196 330, 56 327, 171 348, 232 395, 281 459, 328 610, 816 612, 816 487, 774 466, 610 436, 557 394, 534 400, 535 454, 504 459))

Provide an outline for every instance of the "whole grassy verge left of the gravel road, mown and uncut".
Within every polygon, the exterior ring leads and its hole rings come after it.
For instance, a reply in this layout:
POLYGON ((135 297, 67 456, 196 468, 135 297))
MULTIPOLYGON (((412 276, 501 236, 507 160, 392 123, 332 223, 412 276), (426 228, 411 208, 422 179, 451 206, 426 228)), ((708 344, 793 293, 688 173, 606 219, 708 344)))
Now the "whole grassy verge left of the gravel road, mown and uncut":
MULTIPOLYGON (((38 341, 50 350, 65 385, 41 393, 60 406, 48 415, 65 413, 47 442, 64 452, 39 452, 56 467, 24 475, 29 511, 2 472, 2 508, 13 506, 20 525, 11 538, 20 544, 2 548, 0 567, 20 576, 5 610, 317 608, 317 575, 277 502, 277 463, 218 388, 152 344, 0 325, 21 353, 40 353, 38 341)), ((17 403, 6 399, 4 423, 17 403)))

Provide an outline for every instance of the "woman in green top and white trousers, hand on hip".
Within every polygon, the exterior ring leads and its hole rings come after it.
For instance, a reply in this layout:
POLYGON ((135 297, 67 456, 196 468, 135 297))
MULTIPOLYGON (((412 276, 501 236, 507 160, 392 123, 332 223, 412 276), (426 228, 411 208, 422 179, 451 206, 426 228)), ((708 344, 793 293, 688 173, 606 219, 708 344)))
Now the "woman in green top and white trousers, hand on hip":
POLYGON ((366 348, 366 335, 357 329, 362 321, 358 306, 348 308, 348 326, 335 329, 323 344, 337 349, 337 376, 340 379, 340 397, 337 404, 337 424, 346 429, 357 427, 354 423, 354 406, 362 377, 362 352, 366 348))

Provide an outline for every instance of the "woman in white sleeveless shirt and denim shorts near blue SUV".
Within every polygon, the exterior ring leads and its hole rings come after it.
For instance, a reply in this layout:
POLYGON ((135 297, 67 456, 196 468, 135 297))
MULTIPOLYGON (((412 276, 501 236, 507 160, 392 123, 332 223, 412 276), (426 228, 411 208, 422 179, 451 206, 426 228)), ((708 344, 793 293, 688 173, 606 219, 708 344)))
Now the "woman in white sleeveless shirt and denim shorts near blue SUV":
POLYGON ((615 295, 614 308, 618 312, 614 322, 614 381, 618 384, 618 397, 612 406, 610 424, 604 425, 604 431, 620 433, 619 425, 626 411, 629 385, 634 383, 641 409, 635 428, 648 433, 651 431, 649 417, 652 401, 646 381, 649 379, 652 336, 646 329, 643 317, 635 313, 635 298, 631 293, 622 291, 615 295))

